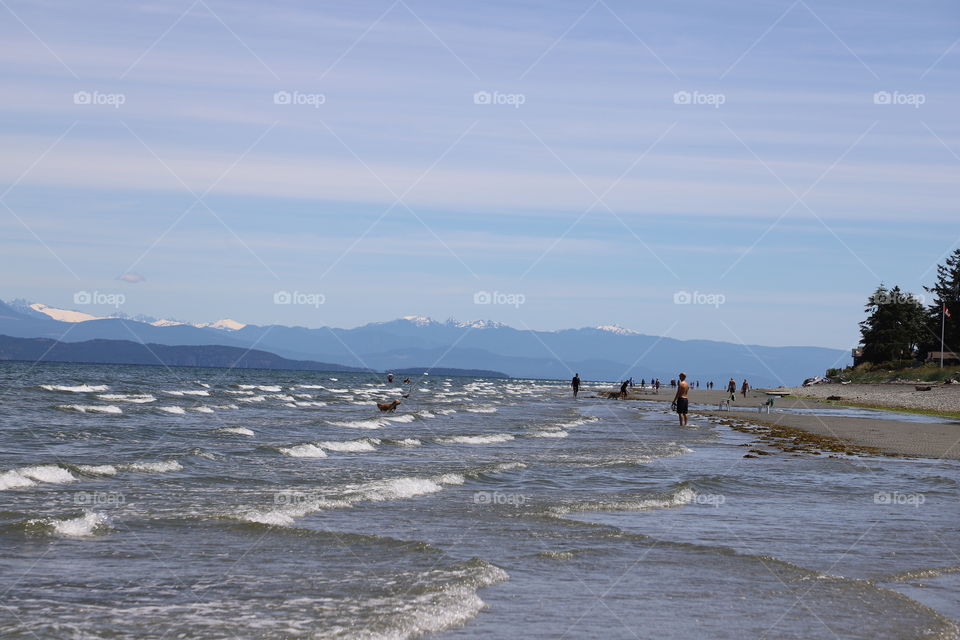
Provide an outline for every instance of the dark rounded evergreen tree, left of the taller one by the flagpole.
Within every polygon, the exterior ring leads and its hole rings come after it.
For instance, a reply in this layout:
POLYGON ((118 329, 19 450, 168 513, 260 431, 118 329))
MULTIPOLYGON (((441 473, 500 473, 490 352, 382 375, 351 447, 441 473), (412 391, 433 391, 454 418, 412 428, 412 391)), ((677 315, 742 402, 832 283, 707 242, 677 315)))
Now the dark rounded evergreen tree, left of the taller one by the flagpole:
POLYGON ((877 287, 867 299, 867 319, 860 323, 863 361, 874 364, 912 361, 925 341, 926 316, 923 305, 900 287, 877 287))

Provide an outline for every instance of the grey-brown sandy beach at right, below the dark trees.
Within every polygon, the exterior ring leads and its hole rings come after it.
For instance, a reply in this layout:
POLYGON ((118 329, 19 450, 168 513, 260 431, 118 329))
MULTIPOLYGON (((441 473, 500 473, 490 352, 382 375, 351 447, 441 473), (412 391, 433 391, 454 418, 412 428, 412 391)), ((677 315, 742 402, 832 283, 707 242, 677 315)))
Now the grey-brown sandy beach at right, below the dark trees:
MULTIPOLYGON (((759 432, 772 437, 778 448, 810 452, 814 449, 836 452, 859 452, 885 455, 920 456, 925 458, 960 459, 960 421, 944 418, 943 422, 916 422, 897 419, 873 419, 831 415, 800 415, 778 410, 802 409, 836 411, 842 406, 819 402, 829 396, 840 396, 854 404, 870 404, 890 408, 960 411, 960 387, 934 387, 918 392, 907 385, 819 385, 784 389, 806 397, 777 398, 770 413, 758 412, 767 401, 766 393, 751 391, 744 398, 739 392, 729 410, 718 410, 728 394, 718 390, 694 389, 690 392, 691 414, 709 415, 729 420, 731 424, 749 422, 759 432), (705 409, 704 405, 711 407, 705 409), (772 432, 771 432, 772 429, 772 432), (798 431, 812 434, 804 436, 798 431), (796 442, 794 442, 796 440, 796 442)), ((627 400, 669 403, 674 390, 661 388, 659 394, 634 388, 627 400)), ((841 403, 841 401, 836 401, 841 403)), ((890 416, 893 418, 893 416, 890 416)), ((743 430, 743 429, 739 429, 743 430)))

